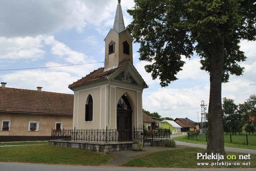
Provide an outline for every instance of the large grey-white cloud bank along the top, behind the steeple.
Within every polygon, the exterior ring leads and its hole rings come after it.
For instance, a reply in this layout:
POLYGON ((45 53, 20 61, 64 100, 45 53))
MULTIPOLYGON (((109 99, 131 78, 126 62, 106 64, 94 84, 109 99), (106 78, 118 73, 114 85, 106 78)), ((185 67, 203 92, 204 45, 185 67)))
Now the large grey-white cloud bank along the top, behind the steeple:
MULTIPOLYGON (((130 17, 125 9, 131 8, 134 2, 126 0, 121 4, 128 24, 130 17)), ((0 5, 0 33, 4 37, 26 37, 71 28, 82 32, 87 23, 99 29, 109 28, 110 22, 106 21, 114 21, 114 6, 116 0, 4 0, 0 5)))

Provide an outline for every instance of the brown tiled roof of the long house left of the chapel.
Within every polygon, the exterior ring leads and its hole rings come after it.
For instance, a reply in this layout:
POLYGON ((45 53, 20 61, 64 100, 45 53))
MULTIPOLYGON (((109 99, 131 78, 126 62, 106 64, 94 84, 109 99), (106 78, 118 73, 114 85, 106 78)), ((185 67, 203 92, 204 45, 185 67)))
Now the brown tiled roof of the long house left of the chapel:
POLYGON ((0 111, 73 115, 74 95, 0 87, 0 111))

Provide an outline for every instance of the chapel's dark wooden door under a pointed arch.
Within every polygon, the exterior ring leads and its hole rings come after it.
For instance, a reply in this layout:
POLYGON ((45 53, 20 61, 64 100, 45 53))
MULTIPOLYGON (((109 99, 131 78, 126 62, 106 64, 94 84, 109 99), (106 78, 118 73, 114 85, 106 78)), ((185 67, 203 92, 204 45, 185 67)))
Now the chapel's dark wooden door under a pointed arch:
POLYGON ((132 107, 126 94, 119 99, 117 104, 116 127, 119 141, 132 140, 132 107))

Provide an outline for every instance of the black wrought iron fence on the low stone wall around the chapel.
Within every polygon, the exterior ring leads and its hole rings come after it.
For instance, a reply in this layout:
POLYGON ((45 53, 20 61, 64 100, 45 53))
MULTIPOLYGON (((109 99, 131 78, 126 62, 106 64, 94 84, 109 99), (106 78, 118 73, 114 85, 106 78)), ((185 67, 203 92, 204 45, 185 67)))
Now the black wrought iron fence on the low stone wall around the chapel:
POLYGON ((170 129, 145 129, 143 127, 134 127, 130 130, 108 129, 108 127, 106 129, 52 129, 51 139, 106 143, 136 139, 148 145, 152 144, 153 139, 170 138, 170 134, 170 129))

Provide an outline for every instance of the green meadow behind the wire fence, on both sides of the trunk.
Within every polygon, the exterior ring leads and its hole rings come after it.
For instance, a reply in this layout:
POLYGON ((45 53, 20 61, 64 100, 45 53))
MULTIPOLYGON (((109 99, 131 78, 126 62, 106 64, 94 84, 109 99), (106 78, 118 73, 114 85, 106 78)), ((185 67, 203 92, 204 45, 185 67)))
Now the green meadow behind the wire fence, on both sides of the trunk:
MULTIPOLYGON (((188 133, 187 137, 192 141, 207 141, 207 134, 188 133)), ((256 134, 247 134, 247 139, 246 134, 224 134, 224 143, 256 145, 256 134)))

